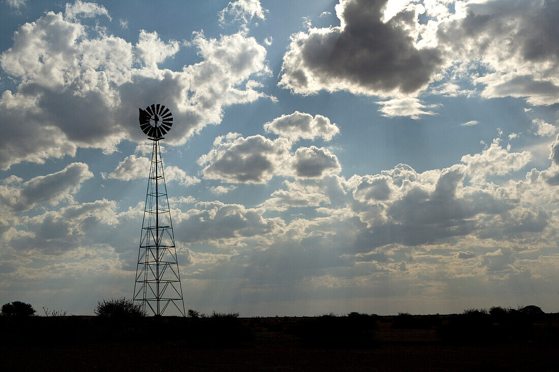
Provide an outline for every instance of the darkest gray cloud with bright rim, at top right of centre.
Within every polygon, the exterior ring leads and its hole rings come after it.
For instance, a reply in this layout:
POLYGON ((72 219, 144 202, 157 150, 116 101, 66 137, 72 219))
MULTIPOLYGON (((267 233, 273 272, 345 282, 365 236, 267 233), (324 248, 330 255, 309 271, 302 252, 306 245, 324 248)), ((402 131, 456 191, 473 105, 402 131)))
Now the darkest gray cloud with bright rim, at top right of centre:
POLYGON ((438 49, 417 49, 406 27, 414 11, 383 22, 386 0, 342 0, 340 27, 294 34, 283 58, 280 85, 296 93, 321 89, 385 95, 415 93, 443 63, 438 49))

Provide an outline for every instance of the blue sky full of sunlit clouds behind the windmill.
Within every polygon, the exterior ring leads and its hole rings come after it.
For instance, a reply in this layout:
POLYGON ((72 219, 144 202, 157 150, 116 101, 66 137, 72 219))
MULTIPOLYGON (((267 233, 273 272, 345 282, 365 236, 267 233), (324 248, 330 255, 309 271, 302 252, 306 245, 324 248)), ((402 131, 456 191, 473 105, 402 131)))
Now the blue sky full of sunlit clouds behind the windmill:
POLYGON ((559 310, 559 1, 0 10, 0 303, 132 296, 163 103, 187 309, 559 310))

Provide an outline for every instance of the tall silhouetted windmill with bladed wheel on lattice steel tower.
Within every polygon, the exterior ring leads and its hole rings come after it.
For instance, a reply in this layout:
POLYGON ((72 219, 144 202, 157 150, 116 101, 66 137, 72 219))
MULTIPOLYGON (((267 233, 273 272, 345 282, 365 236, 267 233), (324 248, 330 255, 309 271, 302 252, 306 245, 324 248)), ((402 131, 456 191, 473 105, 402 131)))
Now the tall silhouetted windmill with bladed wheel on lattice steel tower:
POLYGON ((169 304, 184 316, 181 276, 173 223, 163 174, 159 140, 173 125, 173 116, 162 104, 140 108, 140 128, 153 141, 144 222, 141 228, 134 301, 146 314, 163 315, 169 304))

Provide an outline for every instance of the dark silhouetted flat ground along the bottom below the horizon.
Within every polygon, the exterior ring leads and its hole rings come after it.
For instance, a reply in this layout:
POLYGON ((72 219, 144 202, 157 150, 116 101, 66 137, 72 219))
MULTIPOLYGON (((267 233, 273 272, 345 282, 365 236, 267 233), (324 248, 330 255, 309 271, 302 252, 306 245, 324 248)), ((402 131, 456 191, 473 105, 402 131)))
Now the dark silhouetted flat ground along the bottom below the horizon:
POLYGON ((559 314, 0 317, 0 370, 559 370, 559 314))

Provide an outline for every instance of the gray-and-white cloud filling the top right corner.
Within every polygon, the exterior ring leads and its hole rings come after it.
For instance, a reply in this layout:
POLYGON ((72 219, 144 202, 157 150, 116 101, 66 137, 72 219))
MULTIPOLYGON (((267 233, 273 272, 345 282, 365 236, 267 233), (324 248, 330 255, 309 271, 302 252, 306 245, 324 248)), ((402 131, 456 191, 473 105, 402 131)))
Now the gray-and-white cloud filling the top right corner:
POLYGON ((481 60, 495 73, 475 79, 482 96, 558 101, 559 3, 526 0, 470 2, 464 16, 440 23, 440 46, 457 60, 481 60))

